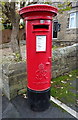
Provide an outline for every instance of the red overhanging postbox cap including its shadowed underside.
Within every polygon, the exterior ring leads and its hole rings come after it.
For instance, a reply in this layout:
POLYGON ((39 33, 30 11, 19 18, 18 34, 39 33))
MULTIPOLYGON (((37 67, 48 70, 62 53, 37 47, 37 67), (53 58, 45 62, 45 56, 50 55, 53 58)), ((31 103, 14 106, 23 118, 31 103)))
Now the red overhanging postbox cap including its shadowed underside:
POLYGON ((55 16, 57 15, 58 9, 50 6, 50 5, 46 5, 46 4, 35 4, 35 5, 29 5, 27 7, 22 8, 19 11, 19 14, 25 18, 25 17, 29 17, 29 16, 55 16), (46 14, 47 13, 47 14, 46 14))

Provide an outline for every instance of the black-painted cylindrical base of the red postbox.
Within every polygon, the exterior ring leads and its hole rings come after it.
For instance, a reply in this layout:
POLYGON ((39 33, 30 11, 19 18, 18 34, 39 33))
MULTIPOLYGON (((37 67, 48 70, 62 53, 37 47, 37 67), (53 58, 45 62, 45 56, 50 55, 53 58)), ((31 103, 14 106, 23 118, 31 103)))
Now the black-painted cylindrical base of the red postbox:
POLYGON ((50 106, 50 89, 34 91, 27 88, 28 104, 33 111, 44 111, 50 106))

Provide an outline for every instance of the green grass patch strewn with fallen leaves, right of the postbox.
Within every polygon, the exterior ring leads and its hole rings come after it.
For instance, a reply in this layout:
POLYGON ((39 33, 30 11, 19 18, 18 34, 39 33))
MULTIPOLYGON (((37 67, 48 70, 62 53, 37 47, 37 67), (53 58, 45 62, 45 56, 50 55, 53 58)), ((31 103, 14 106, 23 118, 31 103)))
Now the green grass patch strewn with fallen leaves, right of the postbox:
POLYGON ((52 79, 51 95, 63 103, 75 103, 76 93, 72 81, 78 77, 78 70, 71 71, 67 75, 52 79))

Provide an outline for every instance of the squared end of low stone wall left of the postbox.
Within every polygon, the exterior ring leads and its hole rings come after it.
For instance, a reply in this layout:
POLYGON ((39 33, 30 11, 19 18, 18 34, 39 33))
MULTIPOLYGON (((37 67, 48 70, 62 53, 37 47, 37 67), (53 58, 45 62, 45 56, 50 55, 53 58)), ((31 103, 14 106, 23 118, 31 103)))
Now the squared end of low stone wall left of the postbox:
POLYGON ((26 88, 26 64, 25 62, 7 63, 2 69, 3 93, 10 100, 17 96, 19 90, 26 88))

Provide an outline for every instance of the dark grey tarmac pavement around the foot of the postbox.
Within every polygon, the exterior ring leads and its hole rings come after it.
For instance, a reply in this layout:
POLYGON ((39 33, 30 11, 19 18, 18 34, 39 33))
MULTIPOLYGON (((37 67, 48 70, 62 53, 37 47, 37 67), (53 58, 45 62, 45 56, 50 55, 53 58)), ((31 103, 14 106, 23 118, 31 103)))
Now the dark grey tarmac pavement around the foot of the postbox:
POLYGON ((47 120, 49 118, 58 118, 59 120, 66 118, 66 120, 77 120, 66 111, 55 106, 54 103, 51 103, 49 109, 44 112, 34 112, 30 110, 27 99, 23 96, 17 96, 11 101, 3 96, 2 108, 3 118, 47 118, 47 120))

